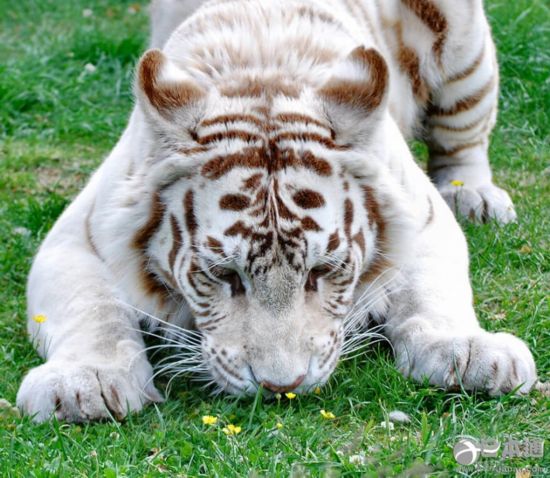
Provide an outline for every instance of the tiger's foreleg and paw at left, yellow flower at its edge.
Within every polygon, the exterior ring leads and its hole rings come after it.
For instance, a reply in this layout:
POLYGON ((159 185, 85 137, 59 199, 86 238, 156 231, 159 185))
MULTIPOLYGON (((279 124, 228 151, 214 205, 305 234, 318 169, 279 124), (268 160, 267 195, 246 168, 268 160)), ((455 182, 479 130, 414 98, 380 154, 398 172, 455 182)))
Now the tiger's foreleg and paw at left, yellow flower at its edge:
POLYGON ((36 421, 122 419, 162 399, 137 319, 86 238, 95 179, 58 220, 29 277, 28 331, 47 361, 26 375, 17 404, 36 421))

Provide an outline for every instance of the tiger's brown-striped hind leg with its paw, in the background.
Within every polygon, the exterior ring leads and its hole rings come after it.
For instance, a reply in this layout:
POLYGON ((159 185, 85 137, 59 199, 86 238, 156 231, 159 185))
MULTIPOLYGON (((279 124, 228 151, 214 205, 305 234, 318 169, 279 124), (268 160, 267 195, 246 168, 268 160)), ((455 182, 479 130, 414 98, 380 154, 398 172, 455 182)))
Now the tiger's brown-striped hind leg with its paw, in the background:
MULTIPOLYGON (((456 9, 465 7, 454 6, 456 9)), ((471 13, 471 12, 470 12, 471 13)), ((453 18, 464 23, 470 13, 453 18)), ((450 22, 442 57, 445 80, 426 117, 428 173, 455 214, 473 221, 516 219, 506 191, 492 180, 489 135, 496 121, 498 65, 481 3, 471 26, 450 22), (468 48, 464 48, 468 42, 468 48)))

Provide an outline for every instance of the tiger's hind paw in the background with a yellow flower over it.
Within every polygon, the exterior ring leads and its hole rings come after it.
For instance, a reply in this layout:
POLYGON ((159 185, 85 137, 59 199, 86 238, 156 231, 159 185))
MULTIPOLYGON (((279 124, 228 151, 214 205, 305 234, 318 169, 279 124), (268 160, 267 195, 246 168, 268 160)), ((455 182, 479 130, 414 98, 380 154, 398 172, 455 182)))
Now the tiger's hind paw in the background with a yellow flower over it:
POLYGON ((493 219, 500 224, 517 219, 508 193, 492 183, 473 186, 455 180, 438 185, 438 189, 456 216, 466 217, 473 222, 493 219))

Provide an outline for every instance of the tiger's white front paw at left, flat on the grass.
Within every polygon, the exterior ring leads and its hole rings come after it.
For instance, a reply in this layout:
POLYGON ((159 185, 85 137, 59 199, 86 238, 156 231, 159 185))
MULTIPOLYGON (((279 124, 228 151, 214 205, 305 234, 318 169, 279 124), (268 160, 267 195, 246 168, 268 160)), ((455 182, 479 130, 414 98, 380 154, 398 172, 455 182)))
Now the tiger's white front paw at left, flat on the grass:
MULTIPOLYGON (((150 368, 149 364, 145 366, 150 368)), ((32 369, 17 394, 17 406, 36 422, 54 415, 68 422, 109 417, 122 420, 152 401, 162 401, 152 381, 144 382, 123 367, 65 361, 47 362, 32 369)))

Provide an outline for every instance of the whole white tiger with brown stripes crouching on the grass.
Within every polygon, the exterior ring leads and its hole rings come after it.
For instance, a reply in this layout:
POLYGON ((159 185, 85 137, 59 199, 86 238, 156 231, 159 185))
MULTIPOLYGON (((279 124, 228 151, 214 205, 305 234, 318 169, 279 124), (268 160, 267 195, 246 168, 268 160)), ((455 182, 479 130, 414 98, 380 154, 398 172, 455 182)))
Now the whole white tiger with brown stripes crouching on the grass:
POLYGON ((532 388, 527 346, 480 328, 464 236, 406 143, 424 135, 459 213, 515 218, 487 159, 481 0, 158 0, 153 18, 163 50, 140 61, 128 127, 34 261, 47 361, 22 410, 121 419, 162 400, 140 324, 234 394, 323 384, 369 317, 406 376, 532 388))

